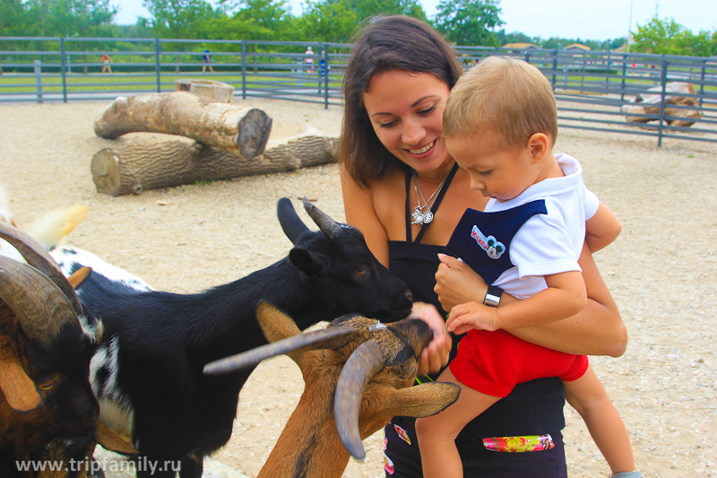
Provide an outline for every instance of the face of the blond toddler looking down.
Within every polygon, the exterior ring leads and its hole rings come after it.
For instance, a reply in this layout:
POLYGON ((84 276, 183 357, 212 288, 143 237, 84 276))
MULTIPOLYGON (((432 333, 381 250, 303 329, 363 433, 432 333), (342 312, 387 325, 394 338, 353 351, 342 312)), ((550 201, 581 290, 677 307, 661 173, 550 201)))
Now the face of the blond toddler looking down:
POLYGON ((483 196, 507 201, 519 196, 535 183, 531 149, 505 148, 499 134, 486 131, 445 140, 454 160, 471 177, 471 189, 483 196))

